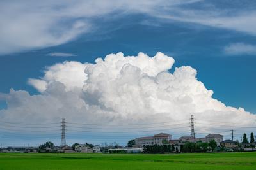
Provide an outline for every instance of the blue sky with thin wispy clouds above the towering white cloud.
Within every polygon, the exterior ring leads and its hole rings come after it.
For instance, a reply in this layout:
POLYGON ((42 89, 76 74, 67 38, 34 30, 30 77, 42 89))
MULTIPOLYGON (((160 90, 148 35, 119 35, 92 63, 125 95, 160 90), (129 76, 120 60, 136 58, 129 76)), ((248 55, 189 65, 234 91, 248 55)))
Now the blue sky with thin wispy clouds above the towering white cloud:
MULTIPOLYGON (((0 93, 40 94, 28 79, 56 63, 163 52, 175 59, 171 73, 191 66, 213 98, 256 113, 255 1, 95 2, 2 1, 0 93)), ((0 101, 0 110, 6 107, 0 101)))

